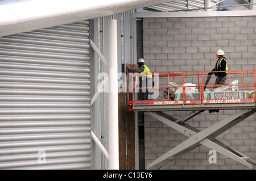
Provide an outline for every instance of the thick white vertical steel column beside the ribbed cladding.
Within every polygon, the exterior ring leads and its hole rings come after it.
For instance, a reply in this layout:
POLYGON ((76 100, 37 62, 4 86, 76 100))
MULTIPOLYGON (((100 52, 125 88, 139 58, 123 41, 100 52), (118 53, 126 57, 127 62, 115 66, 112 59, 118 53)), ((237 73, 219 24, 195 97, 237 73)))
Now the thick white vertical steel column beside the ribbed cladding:
POLYGON ((108 24, 108 110, 109 110, 109 169, 119 169, 118 140, 118 76, 117 76, 117 20, 108 24))

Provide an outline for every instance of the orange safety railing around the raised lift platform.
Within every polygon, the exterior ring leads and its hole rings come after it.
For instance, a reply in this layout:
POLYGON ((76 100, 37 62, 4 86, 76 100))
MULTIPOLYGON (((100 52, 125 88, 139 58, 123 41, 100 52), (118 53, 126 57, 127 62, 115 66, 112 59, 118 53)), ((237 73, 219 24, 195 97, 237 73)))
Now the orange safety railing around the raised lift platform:
POLYGON ((208 73, 208 71, 128 73, 127 104, 129 110, 133 111, 133 106, 255 103, 256 69, 228 71, 225 85, 215 85, 214 74, 210 81, 211 85, 205 85, 208 73), (152 78, 146 78, 147 75, 152 78), (143 97, 147 91, 151 92, 149 100, 143 97), (139 92, 140 94, 137 94, 139 92))

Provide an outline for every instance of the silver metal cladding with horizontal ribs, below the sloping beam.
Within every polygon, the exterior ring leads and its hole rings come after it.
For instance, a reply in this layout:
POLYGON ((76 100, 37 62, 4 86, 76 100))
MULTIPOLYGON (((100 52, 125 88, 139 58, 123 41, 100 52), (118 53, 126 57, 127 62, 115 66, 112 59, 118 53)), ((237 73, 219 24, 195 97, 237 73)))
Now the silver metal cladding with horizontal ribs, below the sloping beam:
POLYGON ((0 169, 90 169, 89 21, 0 37, 0 169))

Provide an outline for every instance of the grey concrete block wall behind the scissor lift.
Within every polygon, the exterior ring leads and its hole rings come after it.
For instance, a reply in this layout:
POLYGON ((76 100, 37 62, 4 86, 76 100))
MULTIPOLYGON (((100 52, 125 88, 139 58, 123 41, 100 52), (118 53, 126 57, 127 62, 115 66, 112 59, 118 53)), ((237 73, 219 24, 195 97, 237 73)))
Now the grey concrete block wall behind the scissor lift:
MULTIPOLYGON (((210 71, 217 60, 218 49, 224 49, 229 70, 256 68, 256 16, 143 18, 143 56, 152 72, 210 71)), ((187 123, 198 129, 205 129, 236 112, 237 110, 222 110, 219 113, 205 111, 187 123)), ((177 119, 187 113, 168 112, 177 119)), ((256 160, 255 116, 251 115, 220 134, 217 139, 256 160)), ((145 166, 186 139, 183 134, 147 113, 144 115, 144 134, 145 166)), ((248 169, 219 153, 217 163, 210 164, 209 150, 200 146, 162 169, 248 169)))

